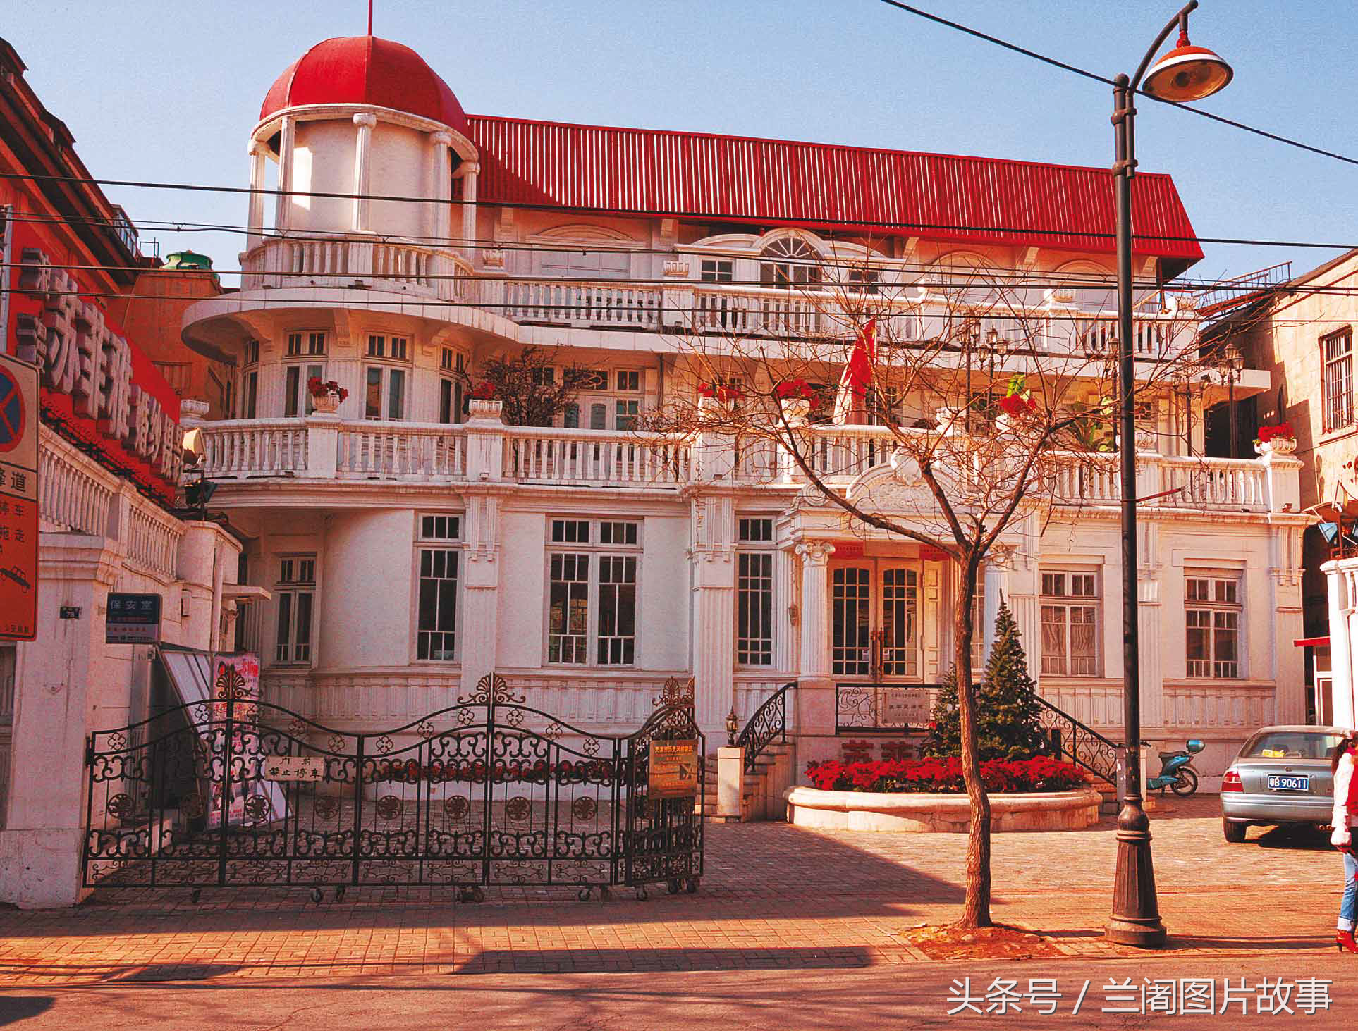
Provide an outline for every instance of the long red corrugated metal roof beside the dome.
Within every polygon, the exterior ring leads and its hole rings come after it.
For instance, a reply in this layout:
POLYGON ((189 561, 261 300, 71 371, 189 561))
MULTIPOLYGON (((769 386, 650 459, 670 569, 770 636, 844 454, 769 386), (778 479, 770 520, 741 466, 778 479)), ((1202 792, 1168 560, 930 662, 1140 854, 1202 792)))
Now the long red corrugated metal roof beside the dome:
MULTIPOLYGON (((1107 168, 492 115, 469 115, 467 133, 486 203, 1114 250, 1107 168)), ((1167 275, 1202 258, 1168 175, 1133 180, 1133 227, 1167 275)))

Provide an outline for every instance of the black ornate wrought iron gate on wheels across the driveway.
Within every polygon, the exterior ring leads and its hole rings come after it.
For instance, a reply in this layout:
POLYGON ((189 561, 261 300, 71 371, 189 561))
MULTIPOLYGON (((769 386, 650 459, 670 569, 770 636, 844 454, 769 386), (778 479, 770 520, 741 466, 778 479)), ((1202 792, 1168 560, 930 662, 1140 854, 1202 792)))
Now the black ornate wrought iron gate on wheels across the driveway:
POLYGON ((524 704, 497 674, 439 712, 352 734, 253 699, 91 734, 84 884, 698 886, 703 737, 686 705, 626 737, 524 704), (653 798, 656 742, 694 795, 653 798), (683 745, 687 747, 687 745, 683 745))

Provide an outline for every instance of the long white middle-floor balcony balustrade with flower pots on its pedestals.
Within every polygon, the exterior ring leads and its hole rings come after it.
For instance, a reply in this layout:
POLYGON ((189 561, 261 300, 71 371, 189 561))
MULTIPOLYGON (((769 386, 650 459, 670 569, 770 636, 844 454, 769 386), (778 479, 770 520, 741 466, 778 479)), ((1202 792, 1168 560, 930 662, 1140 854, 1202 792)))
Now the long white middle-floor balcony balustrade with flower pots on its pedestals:
MULTIPOLYGON (((460 426, 338 422, 333 418, 206 423, 200 441, 213 480, 310 479, 405 483, 507 482, 580 487, 678 490, 729 480, 744 486, 799 484, 807 476, 770 441, 682 437, 619 430, 505 426, 490 418, 460 426)), ((807 464, 847 484, 884 465, 895 437, 884 426, 812 426, 807 464)), ((925 430, 904 430, 925 433, 925 430)), ((1067 506, 1115 506, 1116 454, 1057 454, 1052 495, 1067 506)), ((1229 513, 1297 511, 1296 461, 1203 459, 1141 453, 1137 494, 1146 506, 1229 513)), ((230 495, 227 495, 230 497, 230 495)), ((219 495, 221 499, 221 495, 219 495)))

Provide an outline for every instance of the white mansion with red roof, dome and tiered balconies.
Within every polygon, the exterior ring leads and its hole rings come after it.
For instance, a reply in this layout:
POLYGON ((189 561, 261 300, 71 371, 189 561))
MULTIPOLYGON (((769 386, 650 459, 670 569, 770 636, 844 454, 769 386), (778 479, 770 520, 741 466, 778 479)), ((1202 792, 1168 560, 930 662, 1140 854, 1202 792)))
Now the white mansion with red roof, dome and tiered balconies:
MULTIPOLYGON (((235 383, 196 448, 210 507, 247 540, 240 582, 270 596, 238 624, 265 697, 354 730, 418 720, 497 670, 615 733, 693 677, 717 743, 728 711, 744 723, 796 681, 799 764, 839 754, 881 711, 849 718, 837 695, 947 672, 953 564, 800 503, 777 454, 722 463, 729 442, 638 416, 703 377, 695 341, 708 365, 733 334, 851 342, 834 305, 853 293, 899 300, 898 335, 925 332, 941 269, 1039 282, 1023 315, 1052 353, 1097 358, 1114 317, 1108 290, 1062 286, 1111 288, 1105 170, 466 115, 418 56, 371 37, 284 72, 250 183, 242 289, 183 323, 235 383), (488 358, 526 346, 595 370, 557 426, 469 397, 488 358), (348 391, 334 414, 312 377, 348 391)), ((1167 282, 1200 258, 1192 227, 1168 176, 1135 191, 1138 232, 1164 237, 1138 241, 1137 277, 1167 282)), ((991 322, 983 339, 1009 332, 991 322)), ((1138 339, 1194 331, 1146 292, 1138 339)), ((972 359, 1004 372, 1002 349, 972 359)), ((1245 370, 1234 391, 1266 387, 1245 370)), ((1224 389, 1168 392, 1138 435, 1145 737, 1205 738, 1209 785, 1252 728, 1305 718, 1301 463, 1202 457, 1224 389)), ((930 415, 904 397, 875 421, 930 415)), ((838 488, 888 460, 881 425, 815 431, 838 488)), ((1063 490, 986 567, 983 625, 1004 597, 1043 697, 1116 739, 1116 476, 1063 490)))

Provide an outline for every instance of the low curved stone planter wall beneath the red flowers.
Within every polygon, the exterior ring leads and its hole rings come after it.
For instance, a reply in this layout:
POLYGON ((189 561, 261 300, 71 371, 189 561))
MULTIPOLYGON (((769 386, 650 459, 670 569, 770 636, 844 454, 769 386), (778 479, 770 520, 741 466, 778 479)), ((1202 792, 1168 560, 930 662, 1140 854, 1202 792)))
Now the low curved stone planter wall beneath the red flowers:
MULTIPOLYGON (((788 788, 788 822, 826 830, 891 830, 926 834, 966 833, 971 806, 966 795, 881 794, 788 788)), ((1090 787, 1074 791, 990 796, 991 830, 1078 830, 1099 822, 1103 796, 1090 787)))

